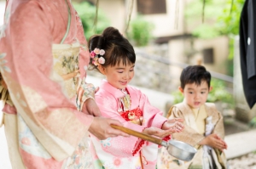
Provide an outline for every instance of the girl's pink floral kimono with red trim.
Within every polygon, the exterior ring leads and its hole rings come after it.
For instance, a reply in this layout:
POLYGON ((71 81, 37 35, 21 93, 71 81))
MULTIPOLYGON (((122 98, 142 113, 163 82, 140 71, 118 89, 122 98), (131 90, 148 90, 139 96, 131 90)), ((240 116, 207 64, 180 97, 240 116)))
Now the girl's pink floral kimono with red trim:
MULTIPOLYGON (((102 116, 117 119, 124 124, 124 127, 137 132, 143 132, 146 127, 161 128, 166 121, 162 112, 149 104, 148 98, 137 88, 128 86, 126 90, 131 97, 131 109, 128 112, 132 112, 133 114, 131 114, 134 115, 141 111, 142 116, 138 118, 142 121, 142 125, 136 124, 136 121, 128 121, 129 115, 125 116, 124 112, 119 112, 119 100, 123 99, 125 94, 105 80, 102 81, 100 90, 96 93, 96 103, 102 116)), ((93 135, 90 136, 90 147, 96 168, 104 166, 105 168, 155 169, 158 154, 157 144, 133 136, 107 138, 105 140, 98 140, 93 135)))

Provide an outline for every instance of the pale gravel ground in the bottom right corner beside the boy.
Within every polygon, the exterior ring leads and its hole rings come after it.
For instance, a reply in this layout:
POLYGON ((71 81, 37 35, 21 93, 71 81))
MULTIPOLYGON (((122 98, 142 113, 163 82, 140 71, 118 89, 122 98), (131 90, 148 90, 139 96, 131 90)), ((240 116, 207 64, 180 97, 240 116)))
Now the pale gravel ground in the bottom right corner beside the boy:
POLYGON ((256 169, 256 152, 228 161, 229 169, 256 169))

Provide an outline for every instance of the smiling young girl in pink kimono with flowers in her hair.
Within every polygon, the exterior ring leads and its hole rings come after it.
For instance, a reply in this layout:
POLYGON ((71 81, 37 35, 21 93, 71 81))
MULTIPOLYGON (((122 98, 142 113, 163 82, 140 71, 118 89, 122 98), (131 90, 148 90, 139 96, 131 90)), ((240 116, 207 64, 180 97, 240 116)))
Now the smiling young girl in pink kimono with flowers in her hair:
MULTIPOLYGON (((90 65, 106 76, 95 96, 102 116, 165 140, 173 132, 183 130, 182 119, 167 120, 149 104, 145 94, 128 85, 134 76, 136 55, 117 29, 108 27, 102 35, 90 37, 89 48, 90 65)), ((96 168, 155 169, 158 147, 133 136, 99 140, 91 135, 96 168)))

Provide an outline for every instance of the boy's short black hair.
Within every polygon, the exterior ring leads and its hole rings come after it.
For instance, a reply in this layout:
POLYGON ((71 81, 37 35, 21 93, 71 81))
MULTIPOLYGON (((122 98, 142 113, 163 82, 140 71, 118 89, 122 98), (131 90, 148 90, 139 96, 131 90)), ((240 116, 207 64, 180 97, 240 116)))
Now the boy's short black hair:
POLYGON ((180 76, 181 87, 184 89, 186 84, 194 83, 201 85, 201 82, 207 82, 208 87, 211 83, 211 74, 202 65, 189 65, 184 68, 180 76))

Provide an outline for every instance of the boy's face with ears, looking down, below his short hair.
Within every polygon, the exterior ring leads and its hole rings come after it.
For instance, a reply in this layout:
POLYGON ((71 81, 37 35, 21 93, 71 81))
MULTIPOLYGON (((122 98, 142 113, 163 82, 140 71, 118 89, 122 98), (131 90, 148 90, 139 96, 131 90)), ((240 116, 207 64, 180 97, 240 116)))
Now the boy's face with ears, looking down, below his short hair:
POLYGON ((186 103, 193 109, 197 109, 207 102, 207 96, 212 87, 209 88, 207 82, 202 81, 199 86, 191 83, 186 84, 184 88, 179 87, 178 89, 183 93, 186 103))

